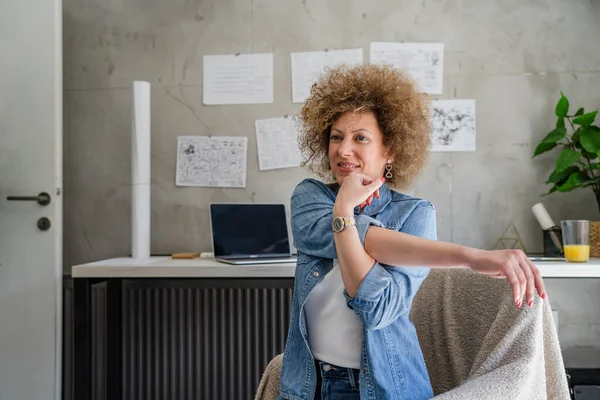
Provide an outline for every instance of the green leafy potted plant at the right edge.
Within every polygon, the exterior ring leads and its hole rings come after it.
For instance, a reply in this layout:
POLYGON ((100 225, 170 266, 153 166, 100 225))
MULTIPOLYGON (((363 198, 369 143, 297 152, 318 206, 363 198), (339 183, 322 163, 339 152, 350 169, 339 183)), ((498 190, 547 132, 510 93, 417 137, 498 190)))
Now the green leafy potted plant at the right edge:
MULTIPOLYGON (((590 188, 596 196, 600 211, 600 127, 594 125, 598 110, 585 112, 579 108, 569 114, 569 100, 561 92, 556 104, 555 128, 537 145, 533 157, 560 149, 554 171, 546 184, 548 193, 570 192, 578 188, 590 188)), ((591 255, 600 257, 600 221, 593 221, 591 255)))

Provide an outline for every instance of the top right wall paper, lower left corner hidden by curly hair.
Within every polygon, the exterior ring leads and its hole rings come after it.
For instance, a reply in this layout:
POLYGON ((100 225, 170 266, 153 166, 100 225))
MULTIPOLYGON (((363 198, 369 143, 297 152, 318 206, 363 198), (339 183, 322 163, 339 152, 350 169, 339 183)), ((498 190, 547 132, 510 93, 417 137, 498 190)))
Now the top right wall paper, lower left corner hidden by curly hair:
POLYGON ((371 64, 389 64, 400 68, 417 82, 424 93, 442 93, 443 43, 373 42, 371 64))

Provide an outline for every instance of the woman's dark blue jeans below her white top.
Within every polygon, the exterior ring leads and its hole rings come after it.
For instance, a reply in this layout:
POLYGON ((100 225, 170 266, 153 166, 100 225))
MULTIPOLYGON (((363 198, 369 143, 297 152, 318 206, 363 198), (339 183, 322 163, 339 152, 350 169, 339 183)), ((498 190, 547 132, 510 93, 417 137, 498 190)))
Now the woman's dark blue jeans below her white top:
POLYGON ((360 370, 338 367, 323 361, 315 361, 317 389, 315 400, 360 399, 358 378, 360 370))

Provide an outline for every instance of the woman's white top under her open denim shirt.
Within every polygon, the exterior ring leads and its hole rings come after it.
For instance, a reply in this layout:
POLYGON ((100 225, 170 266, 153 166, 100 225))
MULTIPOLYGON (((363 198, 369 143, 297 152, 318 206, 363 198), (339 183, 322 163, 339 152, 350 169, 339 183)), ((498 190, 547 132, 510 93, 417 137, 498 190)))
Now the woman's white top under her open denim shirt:
POLYGON ((333 269, 308 295, 304 312, 313 356, 340 367, 360 368, 363 325, 346 305, 337 259, 333 269))

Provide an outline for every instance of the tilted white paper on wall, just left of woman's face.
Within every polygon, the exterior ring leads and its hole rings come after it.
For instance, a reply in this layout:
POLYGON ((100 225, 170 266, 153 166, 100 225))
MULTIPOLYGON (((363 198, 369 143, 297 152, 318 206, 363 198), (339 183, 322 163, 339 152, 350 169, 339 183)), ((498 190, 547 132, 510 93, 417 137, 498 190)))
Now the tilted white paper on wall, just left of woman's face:
POLYGON ((261 171, 296 168, 302 162, 298 147, 298 129, 291 117, 262 119, 254 122, 261 171))

